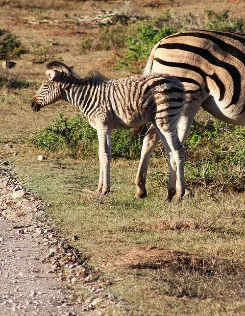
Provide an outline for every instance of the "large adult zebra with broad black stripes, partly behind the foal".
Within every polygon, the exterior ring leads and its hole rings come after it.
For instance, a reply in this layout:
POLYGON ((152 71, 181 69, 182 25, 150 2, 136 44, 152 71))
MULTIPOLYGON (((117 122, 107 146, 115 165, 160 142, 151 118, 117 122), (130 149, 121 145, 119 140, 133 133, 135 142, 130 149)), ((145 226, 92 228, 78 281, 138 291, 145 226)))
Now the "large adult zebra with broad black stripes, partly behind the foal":
MULTIPOLYGON (((218 120, 245 125, 245 34, 190 29, 170 35, 154 46, 144 74, 157 72, 176 76, 186 90, 187 102, 177 125, 182 143, 200 107, 218 120)), ((136 197, 147 196, 148 163, 159 141, 151 125, 135 178, 136 197)), ((167 150, 167 155, 172 161, 172 152, 167 150)), ((171 166, 170 186, 174 186, 176 168, 171 166)))

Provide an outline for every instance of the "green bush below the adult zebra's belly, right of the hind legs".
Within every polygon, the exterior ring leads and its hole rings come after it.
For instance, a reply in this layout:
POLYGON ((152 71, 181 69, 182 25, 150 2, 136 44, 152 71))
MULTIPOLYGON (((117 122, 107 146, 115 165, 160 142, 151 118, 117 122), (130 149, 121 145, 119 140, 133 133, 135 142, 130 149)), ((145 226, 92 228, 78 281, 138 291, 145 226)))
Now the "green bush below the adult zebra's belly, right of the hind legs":
POLYGON ((194 120, 185 143, 186 174, 193 185, 245 191, 245 127, 194 120))

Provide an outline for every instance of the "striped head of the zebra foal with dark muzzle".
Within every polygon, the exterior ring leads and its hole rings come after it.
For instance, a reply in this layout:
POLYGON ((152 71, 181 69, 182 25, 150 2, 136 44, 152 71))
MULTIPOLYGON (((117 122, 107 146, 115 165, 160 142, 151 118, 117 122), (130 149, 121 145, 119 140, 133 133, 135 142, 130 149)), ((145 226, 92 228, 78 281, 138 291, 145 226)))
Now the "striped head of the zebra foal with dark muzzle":
POLYGON ((61 82, 72 74, 73 67, 68 67, 59 61, 50 62, 47 65, 44 81, 30 104, 32 110, 38 112, 42 107, 60 100, 62 98, 61 82))

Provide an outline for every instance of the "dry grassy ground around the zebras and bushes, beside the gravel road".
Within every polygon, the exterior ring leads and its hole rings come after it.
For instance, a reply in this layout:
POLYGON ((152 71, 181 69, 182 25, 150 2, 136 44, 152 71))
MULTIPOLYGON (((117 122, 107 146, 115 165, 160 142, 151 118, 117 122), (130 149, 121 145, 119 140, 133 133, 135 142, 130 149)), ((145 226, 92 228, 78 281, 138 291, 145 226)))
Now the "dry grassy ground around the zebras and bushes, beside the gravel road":
MULTIPOLYGON (((178 17, 192 13, 196 20, 207 9, 227 9, 231 18, 245 18, 244 1, 1 0, 0 29, 17 35, 27 49, 15 68, 1 70, 1 77, 14 84, 1 86, 0 158, 13 164, 26 186, 51 204, 47 213, 62 234, 79 237, 75 246, 99 278, 110 281, 106 291, 125 301, 128 315, 244 315, 244 184, 239 190, 222 190, 222 185, 190 182, 195 197, 167 203, 166 158, 155 156, 148 197, 136 200, 139 159, 119 158, 112 162, 113 192, 98 198, 90 192, 98 183, 95 155, 74 158, 27 142, 59 113, 67 118, 77 114, 64 102, 38 114, 30 110, 46 62, 63 60, 79 74, 95 69, 115 77, 140 73, 145 61, 119 69, 123 49, 93 49, 87 39, 100 41, 101 19, 106 21, 108 11, 156 18, 167 8, 178 17), (48 160, 38 161, 40 153, 48 154, 48 160)), ((204 113, 198 116, 210 119, 204 113)), ((239 142, 244 147, 244 139, 239 142)), ((244 165, 239 168, 241 173, 244 165)), ((84 299, 91 295, 76 287, 84 299)))

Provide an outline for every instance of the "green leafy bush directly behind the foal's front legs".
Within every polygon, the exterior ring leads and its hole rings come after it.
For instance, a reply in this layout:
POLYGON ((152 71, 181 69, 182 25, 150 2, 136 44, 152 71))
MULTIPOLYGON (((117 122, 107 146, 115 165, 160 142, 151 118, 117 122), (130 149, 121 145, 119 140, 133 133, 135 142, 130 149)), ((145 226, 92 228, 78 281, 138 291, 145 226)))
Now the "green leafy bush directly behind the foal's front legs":
MULTIPOLYGON (((140 155, 142 137, 131 139, 130 131, 114 130, 112 133, 112 156, 135 158, 140 155)), ((29 142, 36 148, 48 151, 65 151, 72 156, 98 154, 98 137, 87 119, 76 115, 68 120, 59 114, 54 122, 43 130, 37 130, 29 142)))

